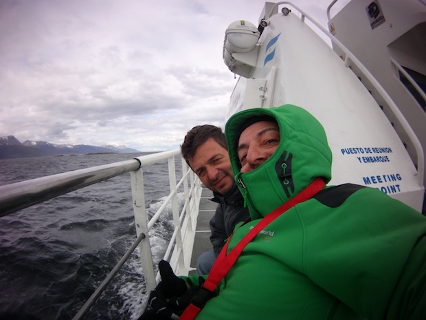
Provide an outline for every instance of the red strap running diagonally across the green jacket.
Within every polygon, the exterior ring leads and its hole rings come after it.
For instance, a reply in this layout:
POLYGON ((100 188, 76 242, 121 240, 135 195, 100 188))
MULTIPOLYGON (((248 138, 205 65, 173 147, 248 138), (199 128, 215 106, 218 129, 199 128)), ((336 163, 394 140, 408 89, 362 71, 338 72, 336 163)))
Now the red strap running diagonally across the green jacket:
POLYGON ((268 224, 276 220, 277 217, 282 215, 282 213, 286 212, 296 204, 300 202, 304 202, 306 200, 311 199, 315 194, 317 194, 324 186, 324 180, 322 178, 315 179, 309 186, 306 187, 302 192, 295 195, 289 201, 285 202, 277 209, 266 215, 254 228, 252 228, 243 239, 236 244, 234 248, 232 248, 231 252, 227 255, 227 247, 229 244, 229 239, 231 239, 232 235, 228 238, 225 246, 223 246, 221 253, 219 253, 216 262, 210 270, 210 273, 205 280, 201 290, 197 292, 194 298, 191 300, 190 305, 183 311, 179 320, 192 320, 197 317, 197 314, 200 312, 201 308, 209 301, 213 295, 214 290, 218 286, 218 284, 222 281, 225 275, 232 268, 240 254, 243 252, 243 249, 249 242, 256 237, 260 231, 265 228, 268 224))

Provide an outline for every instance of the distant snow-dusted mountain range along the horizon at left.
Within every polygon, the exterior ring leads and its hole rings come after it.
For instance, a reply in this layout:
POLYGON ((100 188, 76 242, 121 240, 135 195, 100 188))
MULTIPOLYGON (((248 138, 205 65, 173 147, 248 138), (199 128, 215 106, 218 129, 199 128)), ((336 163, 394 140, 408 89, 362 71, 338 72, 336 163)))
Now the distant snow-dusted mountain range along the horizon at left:
POLYGON ((91 145, 54 145, 46 141, 30 140, 21 143, 14 136, 0 138, 0 159, 32 158, 66 154, 131 152, 140 151, 125 146, 115 147, 113 145, 106 145, 96 147, 91 145))

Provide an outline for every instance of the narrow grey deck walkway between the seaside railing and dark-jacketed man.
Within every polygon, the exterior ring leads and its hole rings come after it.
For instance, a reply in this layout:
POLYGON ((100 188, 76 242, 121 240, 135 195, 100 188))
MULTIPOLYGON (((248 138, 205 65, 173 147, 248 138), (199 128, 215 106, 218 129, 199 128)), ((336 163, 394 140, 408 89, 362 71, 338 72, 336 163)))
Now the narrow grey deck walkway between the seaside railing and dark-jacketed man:
MULTIPOLYGON (((210 242, 210 226, 209 222, 216 211, 217 203, 210 201, 213 198, 213 193, 210 189, 203 186, 201 200, 199 205, 199 215, 197 219, 197 228, 194 239, 194 248, 192 249, 191 268, 197 268, 197 259, 201 253, 208 250, 213 250, 210 242)), ((191 270, 190 275, 197 275, 197 270, 191 270)))

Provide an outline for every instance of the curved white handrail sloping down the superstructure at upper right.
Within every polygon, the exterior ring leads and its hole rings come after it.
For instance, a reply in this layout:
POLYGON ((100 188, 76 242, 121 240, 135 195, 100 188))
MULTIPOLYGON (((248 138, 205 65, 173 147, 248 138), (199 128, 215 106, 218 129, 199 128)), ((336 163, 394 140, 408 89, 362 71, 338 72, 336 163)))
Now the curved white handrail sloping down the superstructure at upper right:
MULTIPOLYGON (((330 4, 330 6, 328 6, 328 10, 327 10, 328 17, 330 15, 329 14, 330 8, 333 6, 333 4, 336 1, 337 0, 333 1, 330 4)), ((305 22, 305 18, 306 18, 311 23, 313 23, 313 25, 315 25, 316 28, 318 28, 323 34, 325 34, 330 39, 330 41, 333 43, 333 45, 337 46, 339 48, 339 50, 341 50, 341 52, 344 53, 345 65, 347 67, 349 67, 351 64, 355 65, 357 67, 357 69, 359 70, 359 72, 361 72, 363 77, 365 77, 369 81, 370 85, 372 85, 374 87, 374 90, 381 96, 381 98, 383 99, 383 102, 386 105, 388 105, 390 111, 392 111, 394 116, 399 120, 401 127, 405 131, 405 134, 410 139, 410 142, 412 143, 412 146, 414 147, 414 150, 416 151, 417 179, 418 179, 418 184, 420 186, 423 186, 424 179, 425 179, 424 178, 424 176, 425 176, 425 156, 424 156, 424 153, 423 153, 423 147, 421 145, 421 142, 418 140, 416 134, 414 133, 412 127, 407 122, 407 120, 405 119, 405 117, 403 116, 403 114, 401 113, 399 108, 396 106, 396 104, 394 103, 394 100, 392 100, 392 98, 389 96, 388 92, 385 91, 385 89, 381 86, 379 81, 377 81, 377 79, 371 74, 371 72, 368 71, 367 67, 365 65, 363 65, 363 63, 361 63, 361 61, 359 61, 358 58, 354 54, 352 54, 352 52, 350 52, 350 50, 343 43, 341 43, 335 36, 333 36, 333 34, 331 34, 328 30, 326 30, 326 28, 324 28, 322 25, 320 25, 320 23, 315 21, 315 19, 310 17, 308 14, 306 14, 306 12, 304 12, 303 10, 301 10, 300 8, 295 6, 291 1, 280 1, 280 2, 275 3, 273 5, 273 7, 271 8, 271 10, 269 11, 269 14, 265 15, 265 21, 267 21, 267 24, 269 24, 269 18, 274 14, 274 12, 278 12, 278 6, 280 6, 280 5, 291 6, 295 10, 298 10, 298 12, 301 15, 301 17, 300 17, 301 21, 305 22)), ((400 69, 399 65, 398 65, 398 63, 396 63, 396 61, 392 61, 392 63, 396 67, 398 67, 398 69, 400 69)), ((402 67, 401 67, 401 69, 402 69, 402 67)), ((408 80, 410 82, 415 82, 412 79, 412 77, 410 76, 410 74, 406 74, 406 73, 403 73, 403 74, 404 74, 404 76, 406 76, 408 78, 408 80)), ((423 94, 423 96, 424 96, 424 94, 423 94)))

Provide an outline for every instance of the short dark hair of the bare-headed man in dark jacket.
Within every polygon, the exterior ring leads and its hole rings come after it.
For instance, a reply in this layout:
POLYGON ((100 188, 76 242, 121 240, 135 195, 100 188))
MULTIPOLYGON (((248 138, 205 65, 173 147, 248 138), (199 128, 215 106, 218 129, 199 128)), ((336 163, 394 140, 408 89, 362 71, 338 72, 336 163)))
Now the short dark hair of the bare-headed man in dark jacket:
POLYGON ((213 138, 221 147, 228 149, 225 133, 219 127, 214 125, 197 125, 188 131, 181 145, 181 153, 188 166, 190 166, 189 161, 194 157, 198 147, 210 138, 213 138))

